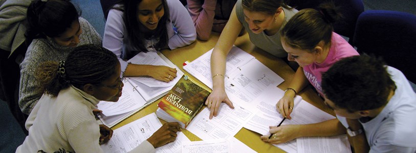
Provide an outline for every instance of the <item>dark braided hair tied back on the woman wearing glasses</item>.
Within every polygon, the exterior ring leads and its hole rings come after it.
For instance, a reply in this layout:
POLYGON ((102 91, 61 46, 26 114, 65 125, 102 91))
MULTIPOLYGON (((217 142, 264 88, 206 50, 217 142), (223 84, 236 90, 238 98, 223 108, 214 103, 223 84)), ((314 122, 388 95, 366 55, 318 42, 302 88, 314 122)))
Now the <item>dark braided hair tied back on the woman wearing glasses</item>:
POLYGON ((58 73, 58 62, 40 64, 35 73, 40 91, 37 93, 57 96, 61 89, 70 85, 82 89, 85 84, 99 84, 115 73, 118 63, 116 55, 104 47, 92 44, 78 46, 65 60, 64 77, 58 73))

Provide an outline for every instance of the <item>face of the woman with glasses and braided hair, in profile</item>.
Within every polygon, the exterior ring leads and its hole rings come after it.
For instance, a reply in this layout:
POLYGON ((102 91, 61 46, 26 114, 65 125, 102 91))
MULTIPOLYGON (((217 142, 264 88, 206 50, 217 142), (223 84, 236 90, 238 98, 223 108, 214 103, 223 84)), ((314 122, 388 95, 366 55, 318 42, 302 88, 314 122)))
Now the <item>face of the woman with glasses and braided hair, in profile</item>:
POLYGON ((120 79, 121 67, 120 63, 117 63, 114 74, 110 78, 104 80, 98 85, 94 85, 95 92, 93 94, 99 100, 116 102, 122 94, 122 88, 124 86, 120 79))

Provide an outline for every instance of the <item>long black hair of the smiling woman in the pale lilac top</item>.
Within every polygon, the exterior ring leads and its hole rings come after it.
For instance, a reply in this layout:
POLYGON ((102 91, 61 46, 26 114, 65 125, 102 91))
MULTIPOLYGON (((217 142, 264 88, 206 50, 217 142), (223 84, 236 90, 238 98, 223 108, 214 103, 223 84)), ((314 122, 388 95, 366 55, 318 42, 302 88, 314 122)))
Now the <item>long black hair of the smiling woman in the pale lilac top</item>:
POLYGON ((127 38, 125 39, 126 49, 136 51, 134 55, 136 55, 137 52, 148 52, 147 46, 145 46, 146 40, 158 39, 158 43, 154 46, 155 49, 158 50, 167 46, 168 43, 166 23, 170 21, 170 14, 166 0, 161 0, 165 13, 159 20, 156 30, 152 32, 145 32, 148 31, 148 29, 138 21, 138 6, 141 2, 142 0, 124 0, 118 3, 120 7, 112 7, 112 9, 124 11, 123 21, 127 30, 127 34, 125 34, 127 38))

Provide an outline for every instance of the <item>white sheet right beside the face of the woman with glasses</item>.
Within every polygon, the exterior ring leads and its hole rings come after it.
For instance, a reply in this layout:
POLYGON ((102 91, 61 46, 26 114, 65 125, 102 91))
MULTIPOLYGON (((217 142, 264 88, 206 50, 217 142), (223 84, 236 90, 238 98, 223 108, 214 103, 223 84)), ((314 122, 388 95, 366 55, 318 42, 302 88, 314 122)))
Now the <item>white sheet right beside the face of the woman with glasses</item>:
POLYGON ((103 115, 108 117, 125 114, 139 109, 146 104, 146 100, 140 96, 139 92, 127 80, 123 79, 124 86, 122 95, 117 102, 100 101, 98 103, 98 109, 102 110, 103 115))

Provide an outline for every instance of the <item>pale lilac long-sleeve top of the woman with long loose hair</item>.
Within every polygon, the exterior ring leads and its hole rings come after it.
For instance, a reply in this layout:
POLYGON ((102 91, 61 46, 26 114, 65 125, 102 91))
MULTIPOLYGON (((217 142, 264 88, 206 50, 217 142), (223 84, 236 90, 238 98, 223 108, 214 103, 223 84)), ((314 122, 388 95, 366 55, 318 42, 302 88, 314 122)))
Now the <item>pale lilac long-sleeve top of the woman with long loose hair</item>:
MULTIPOLYGON (((166 23, 168 34, 168 46, 170 49, 183 47, 191 44, 196 39, 196 30, 193 25, 186 8, 178 0, 167 0, 169 8, 169 20, 166 23), (176 28, 176 31, 173 30, 176 28)), ((123 11, 111 9, 108 12, 107 21, 105 22, 105 30, 103 36, 103 47, 111 50, 118 57, 121 64, 121 71, 124 72, 127 68, 125 40, 127 39, 127 30, 123 21, 123 11)), ((149 43, 156 44, 158 36, 149 41, 149 43)))

